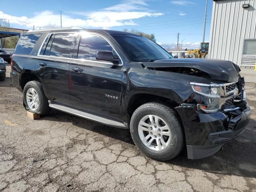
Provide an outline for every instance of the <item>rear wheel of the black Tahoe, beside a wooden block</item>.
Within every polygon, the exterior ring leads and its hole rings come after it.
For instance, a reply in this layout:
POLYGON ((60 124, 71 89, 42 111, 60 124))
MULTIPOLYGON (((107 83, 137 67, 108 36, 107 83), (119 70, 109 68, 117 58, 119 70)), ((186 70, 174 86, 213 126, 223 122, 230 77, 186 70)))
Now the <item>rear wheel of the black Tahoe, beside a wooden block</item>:
POLYGON ((23 101, 26 106, 26 110, 39 115, 48 114, 48 112, 51 110, 48 104, 48 100, 44 95, 42 84, 38 81, 30 81, 26 83, 23 89, 23 101), (27 94, 31 99, 27 98, 27 94), (34 100, 32 99, 31 95, 34 97, 34 100), (28 100, 31 101, 29 104, 28 100), (33 103, 36 104, 32 106, 33 103))

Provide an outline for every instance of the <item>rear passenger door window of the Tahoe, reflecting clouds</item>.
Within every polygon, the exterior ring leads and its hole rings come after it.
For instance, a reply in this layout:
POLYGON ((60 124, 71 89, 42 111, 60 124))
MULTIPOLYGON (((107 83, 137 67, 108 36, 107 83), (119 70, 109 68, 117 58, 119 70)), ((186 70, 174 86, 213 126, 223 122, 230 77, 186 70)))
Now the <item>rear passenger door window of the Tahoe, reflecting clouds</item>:
MULTIPOLYGON (((55 34, 53 38, 52 46, 50 48, 50 56, 69 58, 73 39, 74 39, 74 34, 68 34, 68 33, 55 34)), ((50 46, 48 45, 46 47, 46 51, 50 46)))

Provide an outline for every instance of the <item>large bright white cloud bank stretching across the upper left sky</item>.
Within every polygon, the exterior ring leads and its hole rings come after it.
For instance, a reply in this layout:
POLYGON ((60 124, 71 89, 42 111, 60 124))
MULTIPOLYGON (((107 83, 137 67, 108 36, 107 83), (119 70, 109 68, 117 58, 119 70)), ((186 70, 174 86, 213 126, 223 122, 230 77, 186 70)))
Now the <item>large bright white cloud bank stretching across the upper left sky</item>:
MULTIPOLYGON (((142 17, 156 17, 163 13, 152 12, 146 8, 145 0, 129 0, 94 12, 72 12, 72 14, 62 14, 63 27, 95 27, 111 28, 113 26, 136 25, 134 19, 142 17), (72 16, 70 16, 72 15, 72 16), (82 16, 82 18, 74 18, 82 16)), ((26 28, 57 28, 60 27, 60 14, 49 10, 36 12, 32 17, 13 16, 0 11, 0 19, 10 20, 11 24, 18 24, 26 28)))

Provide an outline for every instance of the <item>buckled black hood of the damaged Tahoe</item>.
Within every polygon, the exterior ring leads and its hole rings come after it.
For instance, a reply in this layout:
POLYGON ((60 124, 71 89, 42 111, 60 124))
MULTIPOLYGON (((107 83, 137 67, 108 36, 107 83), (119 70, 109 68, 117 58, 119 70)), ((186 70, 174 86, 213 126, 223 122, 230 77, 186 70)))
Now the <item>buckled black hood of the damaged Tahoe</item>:
POLYGON ((210 75, 213 80, 236 82, 240 68, 231 61, 216 59, 163 59, 154 62, 143 62, 147 68, 195 68, 210 75))

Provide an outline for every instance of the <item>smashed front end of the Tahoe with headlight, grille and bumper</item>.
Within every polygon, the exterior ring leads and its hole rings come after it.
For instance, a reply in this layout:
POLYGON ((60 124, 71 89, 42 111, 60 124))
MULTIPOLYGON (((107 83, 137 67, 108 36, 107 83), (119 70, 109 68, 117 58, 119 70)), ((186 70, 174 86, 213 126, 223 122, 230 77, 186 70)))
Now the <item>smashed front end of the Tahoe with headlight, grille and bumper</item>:
POLYGON ((191 82, 193 93, 175 108, 182 119, 188 158, 208 157, 240 135, 250 119, 244 78, 226 84, 191 82))

